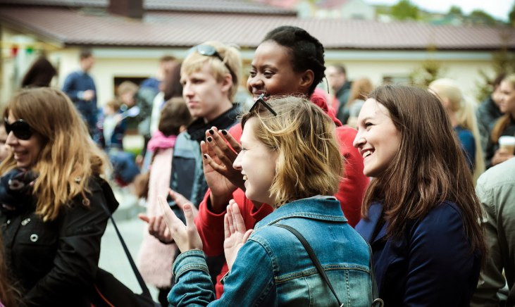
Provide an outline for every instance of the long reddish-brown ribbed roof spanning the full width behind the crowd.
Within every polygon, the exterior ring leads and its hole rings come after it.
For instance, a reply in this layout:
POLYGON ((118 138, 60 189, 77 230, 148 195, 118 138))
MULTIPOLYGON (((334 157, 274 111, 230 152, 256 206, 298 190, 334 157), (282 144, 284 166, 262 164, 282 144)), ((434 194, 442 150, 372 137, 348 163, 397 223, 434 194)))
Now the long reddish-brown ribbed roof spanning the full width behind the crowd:
POLYGON ((178 47, 217 40, 254 48, 269 30, 280 25, 296 25, 320 39, 326 49, 496 50, 507 46, 515 50, 515 29, 511 27, 178 11, 147 12, 142 20, 135 20, 111 15, 105 10, 0 8, 1 23, 68 46, 178 47))

